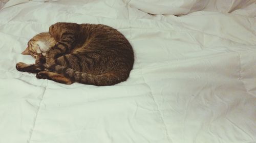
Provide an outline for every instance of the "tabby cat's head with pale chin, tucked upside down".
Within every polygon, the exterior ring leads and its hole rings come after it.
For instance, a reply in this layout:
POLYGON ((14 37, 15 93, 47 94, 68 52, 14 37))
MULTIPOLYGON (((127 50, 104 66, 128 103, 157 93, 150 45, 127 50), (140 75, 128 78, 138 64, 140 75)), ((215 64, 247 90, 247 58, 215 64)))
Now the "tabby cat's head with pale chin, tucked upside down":
POLYGON ((46 52, 55 44, 56 41, 49 33, 39 33, 29 40, 22 54, 32 55, 35 59, 37 56, 46 56, 46 52))

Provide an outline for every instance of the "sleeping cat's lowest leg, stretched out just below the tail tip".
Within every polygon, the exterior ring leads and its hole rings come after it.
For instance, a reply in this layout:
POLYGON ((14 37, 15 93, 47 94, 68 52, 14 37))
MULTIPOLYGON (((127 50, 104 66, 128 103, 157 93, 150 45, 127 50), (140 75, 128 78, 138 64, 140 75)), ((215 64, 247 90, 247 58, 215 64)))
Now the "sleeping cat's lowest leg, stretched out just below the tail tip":
POLYGON ((49 79, 49 80, 53 80, 53 81, 63 83, 63 84, 72 84, 72 83, 74 83, 71 79, 65 77, 62 74, 49 72, 49 71, 40 71, 40 72, 38 72, 36 74, 36 78, 49 79))

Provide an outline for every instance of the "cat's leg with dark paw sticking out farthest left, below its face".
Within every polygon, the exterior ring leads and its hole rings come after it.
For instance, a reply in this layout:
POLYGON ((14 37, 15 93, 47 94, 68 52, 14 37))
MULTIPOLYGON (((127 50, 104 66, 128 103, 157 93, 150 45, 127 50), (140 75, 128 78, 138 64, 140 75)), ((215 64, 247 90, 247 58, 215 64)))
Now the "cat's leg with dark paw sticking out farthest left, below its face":
POLYGON ((39 65, 39 64, 28 65, 28 64, 19 62, 16 64, 16 69, 18 71, 22 71, 22 72, 38 73, 38 72, 44 70, 45 67, 43 65, 39 65))

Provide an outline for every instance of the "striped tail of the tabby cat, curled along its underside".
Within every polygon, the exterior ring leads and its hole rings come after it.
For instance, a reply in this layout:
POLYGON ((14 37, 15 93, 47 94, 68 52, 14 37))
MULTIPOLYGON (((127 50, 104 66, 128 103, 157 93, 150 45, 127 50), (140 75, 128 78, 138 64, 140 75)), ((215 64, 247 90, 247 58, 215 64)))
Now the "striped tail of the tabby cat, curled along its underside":
POLYGON ((71 79, 73 82, 79 82, 83 84, 93 84, 97 86, 113 85, 119 82, 125 81, 129 77, 129 73, 123 71, 108 72, 104 74, 90 74, 79 72, 71 68, 67 68, 60 65, 52 65, 48 68, 49 71, 62 74, 65 77, 71 79))

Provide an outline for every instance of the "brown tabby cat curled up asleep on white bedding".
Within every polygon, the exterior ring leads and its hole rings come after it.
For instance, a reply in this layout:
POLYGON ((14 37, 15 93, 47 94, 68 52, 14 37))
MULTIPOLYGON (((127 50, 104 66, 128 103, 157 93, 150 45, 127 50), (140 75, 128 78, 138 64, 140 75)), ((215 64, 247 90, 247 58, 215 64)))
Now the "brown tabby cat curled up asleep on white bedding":
POLYGON ((113 85, 125 81, 134 64, 129 41, 102 24, 55 23, 33 37, 23 54, 36 62, 17 63, 18 71, 65 84, 113 85))

